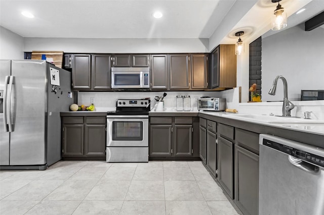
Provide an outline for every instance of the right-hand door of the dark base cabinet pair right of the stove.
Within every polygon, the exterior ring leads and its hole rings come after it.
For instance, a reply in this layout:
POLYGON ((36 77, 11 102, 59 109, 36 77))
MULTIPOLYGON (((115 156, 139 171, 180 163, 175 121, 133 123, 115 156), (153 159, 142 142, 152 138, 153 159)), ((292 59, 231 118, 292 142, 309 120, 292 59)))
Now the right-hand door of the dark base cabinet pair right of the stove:
POLYGON ((192 125, 175 125, 174 155, 192 155, 192 125))

